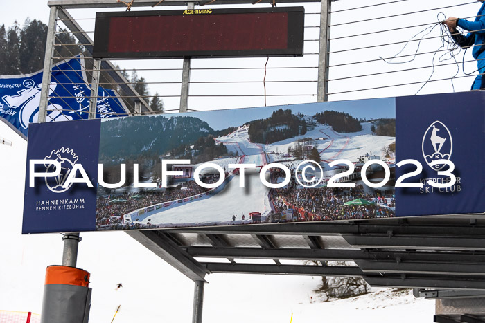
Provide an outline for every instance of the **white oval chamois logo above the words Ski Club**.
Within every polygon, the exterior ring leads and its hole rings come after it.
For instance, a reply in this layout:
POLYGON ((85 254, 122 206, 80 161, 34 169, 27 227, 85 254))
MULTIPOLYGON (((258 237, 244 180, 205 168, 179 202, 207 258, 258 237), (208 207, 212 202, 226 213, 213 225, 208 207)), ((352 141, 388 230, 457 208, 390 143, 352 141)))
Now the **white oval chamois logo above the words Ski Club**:
MULTIPOLYGON (((433 160, 447 159, 450 160, 453 151, 453 139, 450 130, 441 121, 433 122, 427 128, 421 145, 423 157, 428 166, 433 160)), ((435 171, 441 170, 445 165, 430 166, 435 171)))

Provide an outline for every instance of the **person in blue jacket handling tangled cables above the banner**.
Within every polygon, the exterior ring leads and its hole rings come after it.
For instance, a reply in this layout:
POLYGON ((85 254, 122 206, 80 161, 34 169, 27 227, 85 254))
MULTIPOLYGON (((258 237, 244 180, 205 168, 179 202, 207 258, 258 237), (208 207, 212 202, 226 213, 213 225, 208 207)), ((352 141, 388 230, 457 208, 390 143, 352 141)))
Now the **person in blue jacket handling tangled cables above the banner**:
POLYGON ((482 8, 477 13, 475 21, 449 17, 443 24, 448 26, 455 43, 461 48, 470 48, 473 46, 472 55, 477 59, 479 75, 475 78, 472 90, 485 89, 485 0, 482 2, 482 8), (457 31, 457 26, 468 31, 467 35, 462 35, 457 31))

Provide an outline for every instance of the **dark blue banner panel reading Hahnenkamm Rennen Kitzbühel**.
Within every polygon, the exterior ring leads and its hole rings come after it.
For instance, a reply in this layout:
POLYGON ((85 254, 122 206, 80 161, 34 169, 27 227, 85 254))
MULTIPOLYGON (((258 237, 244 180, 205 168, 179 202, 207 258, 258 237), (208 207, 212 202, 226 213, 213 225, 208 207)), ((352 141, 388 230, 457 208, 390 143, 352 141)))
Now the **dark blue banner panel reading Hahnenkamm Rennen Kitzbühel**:
MULTIPOLYGON (((30 124, 23 233, 95 230, 100 125, 100 120, 30 124), (37 178, 35 187, 30 188, 31 159, 57 159, 62 173, 48 181, 37 178), (62 179, 74 164, 82 165, 93 188, 74 183, 62 189, 62 179)), ((35 170, 46 172, 46 166, 39 165, 35 170)), ((76 177, 80 177, 79 172, 76 177)))

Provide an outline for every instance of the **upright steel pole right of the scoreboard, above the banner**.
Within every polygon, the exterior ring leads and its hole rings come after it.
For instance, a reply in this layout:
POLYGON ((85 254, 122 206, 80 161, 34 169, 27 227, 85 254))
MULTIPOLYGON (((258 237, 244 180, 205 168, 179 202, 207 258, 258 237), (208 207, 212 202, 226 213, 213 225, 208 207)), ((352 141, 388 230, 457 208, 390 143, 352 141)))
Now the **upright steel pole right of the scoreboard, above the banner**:
POLYGON ((321 0, 317 102, 328 101, 328 52, 330 48, 331 1, 321 0))

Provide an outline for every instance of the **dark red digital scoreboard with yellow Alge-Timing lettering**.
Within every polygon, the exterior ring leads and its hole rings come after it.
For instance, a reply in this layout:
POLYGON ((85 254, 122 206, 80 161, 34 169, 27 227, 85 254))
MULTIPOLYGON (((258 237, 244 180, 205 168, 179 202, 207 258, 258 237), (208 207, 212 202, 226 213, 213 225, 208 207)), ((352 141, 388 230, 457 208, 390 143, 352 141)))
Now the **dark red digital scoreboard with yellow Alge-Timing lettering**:
POLYGON ((94 58, 302 56, 303 7, 97 12, 94 58))

